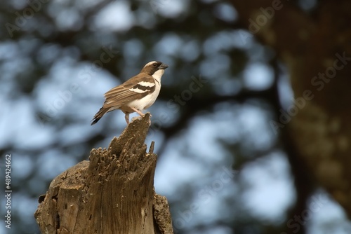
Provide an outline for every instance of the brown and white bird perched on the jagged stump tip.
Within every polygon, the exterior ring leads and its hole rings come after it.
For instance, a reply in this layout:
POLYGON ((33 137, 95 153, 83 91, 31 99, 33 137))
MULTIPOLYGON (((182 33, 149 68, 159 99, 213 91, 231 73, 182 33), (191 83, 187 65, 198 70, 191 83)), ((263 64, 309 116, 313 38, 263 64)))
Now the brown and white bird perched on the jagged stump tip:
POLYGON ((107 91, 105 102, 93 117, 91 125, 98 123, 105 113, 116 109, 124 112, 127 125, 130 113, 136 112, 144 116, 142 111, 154 104, 159 96, 161 77, 167 67, 163 62, 148 62, 138 75, 107 91))

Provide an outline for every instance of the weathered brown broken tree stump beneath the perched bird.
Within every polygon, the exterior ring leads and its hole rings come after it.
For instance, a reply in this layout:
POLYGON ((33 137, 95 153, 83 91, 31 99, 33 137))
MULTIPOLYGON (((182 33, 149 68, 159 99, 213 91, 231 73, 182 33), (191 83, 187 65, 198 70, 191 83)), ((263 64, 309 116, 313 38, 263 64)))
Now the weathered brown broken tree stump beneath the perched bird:
POLYGON ((108 149, 53 179, 34 216, 41 233, 173 233, 166 198, 154 192, 157 155, 145 138, 150 113, 130 123, 108 149))

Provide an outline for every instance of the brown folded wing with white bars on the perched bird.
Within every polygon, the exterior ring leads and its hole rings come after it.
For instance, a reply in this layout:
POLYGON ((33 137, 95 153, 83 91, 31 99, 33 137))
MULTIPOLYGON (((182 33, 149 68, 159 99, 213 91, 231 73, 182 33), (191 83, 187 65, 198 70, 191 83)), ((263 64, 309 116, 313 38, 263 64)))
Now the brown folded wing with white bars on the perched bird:
POLYGON ((154 78, 147 74, 133 76, 105 93, 104 107, 122 106, 135 99, 141 99, 154 91, 154 82, 154 78))

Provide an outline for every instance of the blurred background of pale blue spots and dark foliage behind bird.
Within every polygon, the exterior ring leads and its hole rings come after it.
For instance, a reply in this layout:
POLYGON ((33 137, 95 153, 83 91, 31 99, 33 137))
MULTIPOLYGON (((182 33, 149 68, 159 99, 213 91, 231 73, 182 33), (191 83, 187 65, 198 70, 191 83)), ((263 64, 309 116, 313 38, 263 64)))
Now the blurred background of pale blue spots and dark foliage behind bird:
MULTIPOLYGON (((313 17, 322 2, 284 4, 313 17)), ((52 179, 126 126, 121 111, 90 126, 103 93, 152 60, 169 65, 147 144, 156 142, 154 186, 175 233, 351 233, 273 124, 294 100, 289 69, 235 1, 2 0, 0 9, 1 178, 11 153, 13 190, 11 230, 2 221, 0 233, 39 233, 33 214, 52 179)))

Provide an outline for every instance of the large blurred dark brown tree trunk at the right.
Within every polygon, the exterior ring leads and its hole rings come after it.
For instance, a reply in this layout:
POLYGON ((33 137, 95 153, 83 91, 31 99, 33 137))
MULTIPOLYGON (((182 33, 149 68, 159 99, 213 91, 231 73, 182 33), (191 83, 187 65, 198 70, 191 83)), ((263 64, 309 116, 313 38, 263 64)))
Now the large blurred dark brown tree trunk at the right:
POLYGON ((319 1, 312 13, 292 1, 233 2, 241 25, 273 48, 289 70, 296 103, 284 110, 289 118, 280 119, 279 129, 287 131, 307 174, 350 217, 351 2, 319 1))

